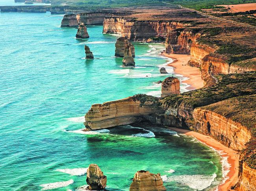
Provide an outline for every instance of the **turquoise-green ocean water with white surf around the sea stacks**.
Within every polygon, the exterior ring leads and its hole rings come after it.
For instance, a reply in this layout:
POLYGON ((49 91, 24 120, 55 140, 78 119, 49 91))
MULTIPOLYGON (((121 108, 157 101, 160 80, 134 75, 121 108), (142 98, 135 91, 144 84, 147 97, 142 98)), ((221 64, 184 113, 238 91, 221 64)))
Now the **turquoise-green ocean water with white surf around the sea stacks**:
POLYGON ((155 82, 185 78, 171 67, 159 73, 171 62, 158 56, 162 44, 135 43, 136 66, 122 67, 118 36, 88 26, 90 38, 76 39, 77 29, 60 27, 62 17, 0 13, 0 190, 79 190, 91 163, 110 191, 128 191, 138 170, 161 173, 169 191, 214 190, 224 159, 195 138, 159 127, 81 131, 92 104, 159 96, 155 82), (94 60, 84 58, 85 44, 94 60))

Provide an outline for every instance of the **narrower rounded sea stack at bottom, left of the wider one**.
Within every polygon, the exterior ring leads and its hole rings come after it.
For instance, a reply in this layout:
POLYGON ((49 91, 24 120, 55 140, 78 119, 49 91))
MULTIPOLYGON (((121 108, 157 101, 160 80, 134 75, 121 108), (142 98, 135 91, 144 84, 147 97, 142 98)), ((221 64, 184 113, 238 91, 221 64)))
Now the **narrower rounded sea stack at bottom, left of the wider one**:
POLYGON ((90 164, 87 169, 86 182, 89 190, 103 190, 107 185, 107 176, 103 175, 98 165, 90 164))

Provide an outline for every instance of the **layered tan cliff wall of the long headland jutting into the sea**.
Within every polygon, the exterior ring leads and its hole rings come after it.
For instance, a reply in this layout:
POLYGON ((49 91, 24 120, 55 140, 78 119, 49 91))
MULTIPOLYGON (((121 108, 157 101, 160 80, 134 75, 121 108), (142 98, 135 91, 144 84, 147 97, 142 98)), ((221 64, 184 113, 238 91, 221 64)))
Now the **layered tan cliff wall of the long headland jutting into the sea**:
POLYGON ((85 127, 104 129, 139 122, 144 116, 149 117, 156 113, 157 100, 158 98, 153 98, 147 101, 138 95, 104 104, 94 104, 85 115, 85 127))

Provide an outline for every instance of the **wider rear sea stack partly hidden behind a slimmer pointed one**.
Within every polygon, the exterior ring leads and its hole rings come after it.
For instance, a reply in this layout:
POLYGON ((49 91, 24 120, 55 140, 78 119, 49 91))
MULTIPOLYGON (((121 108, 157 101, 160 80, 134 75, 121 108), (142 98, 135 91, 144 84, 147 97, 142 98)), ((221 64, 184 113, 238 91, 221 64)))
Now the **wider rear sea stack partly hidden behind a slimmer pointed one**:
POLYGON ((134 45, 128 41, 126 37, 120 37, 117 39, 115 43, 115 56, 116 57, 124 57, 124 49, 126 45, 130 46, 132 57, 135 57, 134 45))

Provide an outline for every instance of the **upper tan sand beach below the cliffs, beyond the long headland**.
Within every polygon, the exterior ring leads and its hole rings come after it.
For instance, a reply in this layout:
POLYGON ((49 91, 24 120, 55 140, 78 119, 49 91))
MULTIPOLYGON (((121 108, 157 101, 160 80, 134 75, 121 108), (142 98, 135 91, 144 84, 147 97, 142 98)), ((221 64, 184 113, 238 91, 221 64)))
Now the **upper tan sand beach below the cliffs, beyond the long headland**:
POLYGON ((176 54, 166 54, 162 53, 162 56, 172 58, 174 61, 169 66, 174 67, 176 74, 181 74, 188 77, 188 80, 183 81, 189 85, 188 90, 198 89, 204 86, 204 81, 201 78, 201 72, 197 67, 191 67, 187 65, 187 62, 190 60, 190 55, 176 55, 176 54))

